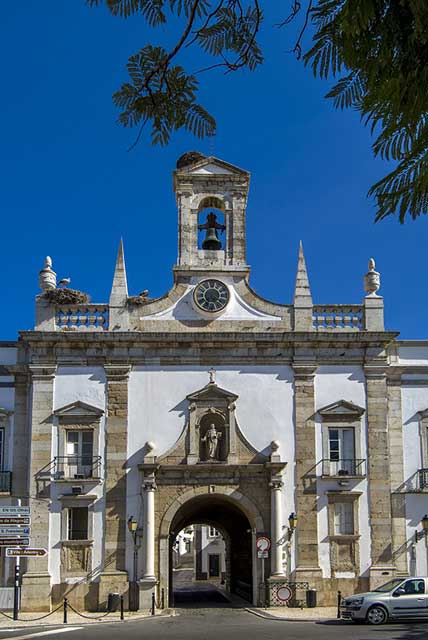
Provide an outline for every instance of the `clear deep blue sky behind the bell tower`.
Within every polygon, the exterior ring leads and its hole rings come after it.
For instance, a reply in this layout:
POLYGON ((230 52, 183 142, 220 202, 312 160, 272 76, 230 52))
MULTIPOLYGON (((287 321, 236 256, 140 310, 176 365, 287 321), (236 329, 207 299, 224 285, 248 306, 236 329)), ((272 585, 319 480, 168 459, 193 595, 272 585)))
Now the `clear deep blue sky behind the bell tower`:
MULTIPOLYGON (((267 3, 270 4, 270 3, 267 3)), ((273 3, 276 4, 276 3, 273 3)), ((373 223, 369 186, 386 171, 357 114, 324 99, 328 83, 287 53, 291 31, 266 17, 266 63, 256 73, 201 76, 200 102, 217 118, 214 155, 251 172, 247 210, 251 285, 290 303, 302 239, 316 303, 358 303, 370 256, 381 272, 386 327, 428 337, 424 217, 373 223)), ((121 236, 130 294, 165 293, 177 255, 171 172, 210 142, 179 133, 166 148, 116 124, 111 94, 129 54, 173 31, 113 18, 84 0, 6 3, 0 24, 0 339, 34 326, 45 255, 58 276, 107 301, 121 236)), ((193 64, 194 53, 187 53, 193 64)), ((197 68, 197 65, 195 65, 197 68)))

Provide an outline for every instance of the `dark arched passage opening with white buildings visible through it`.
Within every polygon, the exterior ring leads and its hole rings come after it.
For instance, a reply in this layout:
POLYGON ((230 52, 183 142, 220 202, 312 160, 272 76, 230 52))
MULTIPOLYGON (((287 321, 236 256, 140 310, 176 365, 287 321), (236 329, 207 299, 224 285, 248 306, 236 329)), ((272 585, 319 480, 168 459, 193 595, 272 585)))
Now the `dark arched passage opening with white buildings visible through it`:
POLYGON ((205 494, 192 498, 171 523, 169 565, 170 606, 224 606, 230 603, 229 594, 252 602, 250 521, 237 504, 224 496, 205 494), (177 546, 181 544, 184 549, 186 531, 187 566, 177 567, 177 546))

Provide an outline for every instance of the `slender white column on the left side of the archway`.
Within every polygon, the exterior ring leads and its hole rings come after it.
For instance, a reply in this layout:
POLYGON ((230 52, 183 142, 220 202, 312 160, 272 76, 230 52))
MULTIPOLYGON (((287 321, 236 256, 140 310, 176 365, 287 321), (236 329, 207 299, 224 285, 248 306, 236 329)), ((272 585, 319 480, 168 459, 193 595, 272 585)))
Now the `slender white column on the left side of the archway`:
POLYGON ((144 478, 143 520, 143 577, 140 580, 140 608, 151 605, 152 592, 157 584, 155 576, 155 489, 154 476, 144 478))

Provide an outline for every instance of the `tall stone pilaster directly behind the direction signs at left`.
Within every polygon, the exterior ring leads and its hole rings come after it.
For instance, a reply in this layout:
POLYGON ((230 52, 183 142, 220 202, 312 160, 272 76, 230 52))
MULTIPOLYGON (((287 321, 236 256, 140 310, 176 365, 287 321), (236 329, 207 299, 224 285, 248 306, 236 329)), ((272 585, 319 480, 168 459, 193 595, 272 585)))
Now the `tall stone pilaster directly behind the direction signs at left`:
MULTIPOLYGON (((49 363, 30 365, 29 369, 32 381, 28 501, 31 508, 31 545, 49 549, 52 411, 56 367, 49 363)), ((22 427, 22 424, 20 426, 22 427)), ((18 451, 15 455, 19 455, 18 451)), ((50 611, 51 576, 48 558, 49 555, 26 561, 27 568, 22 576, 21 607, 23 610, 50 611)))

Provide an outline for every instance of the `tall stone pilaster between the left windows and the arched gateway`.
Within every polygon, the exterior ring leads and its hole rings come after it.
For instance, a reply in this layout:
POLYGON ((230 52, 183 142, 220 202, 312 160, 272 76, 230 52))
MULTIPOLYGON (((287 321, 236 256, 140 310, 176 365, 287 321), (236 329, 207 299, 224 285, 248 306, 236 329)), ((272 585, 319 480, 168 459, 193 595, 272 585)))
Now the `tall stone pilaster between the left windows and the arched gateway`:
POLYGON ((129 366, 105 365, 107 418, 105 427, 104 570, 100 574, 99 605, 110 592, 125 593, 128 574, 126 551, 126 460, 128 457, 129 366))

